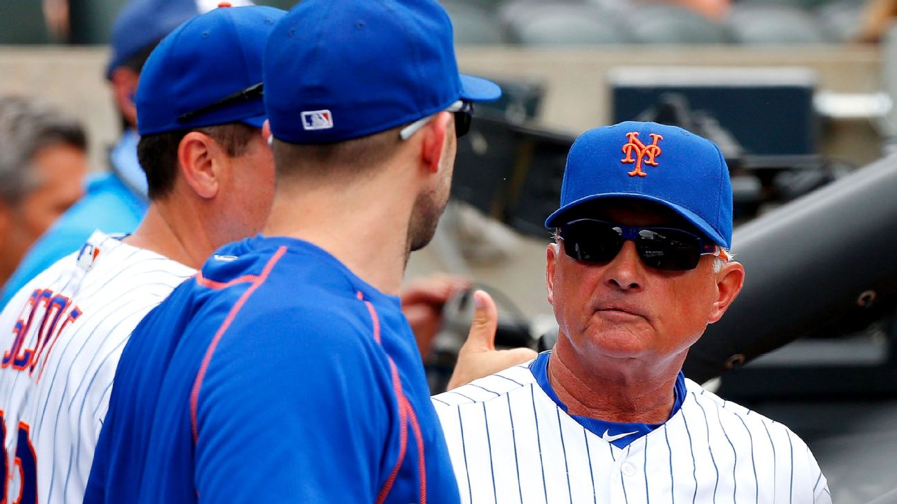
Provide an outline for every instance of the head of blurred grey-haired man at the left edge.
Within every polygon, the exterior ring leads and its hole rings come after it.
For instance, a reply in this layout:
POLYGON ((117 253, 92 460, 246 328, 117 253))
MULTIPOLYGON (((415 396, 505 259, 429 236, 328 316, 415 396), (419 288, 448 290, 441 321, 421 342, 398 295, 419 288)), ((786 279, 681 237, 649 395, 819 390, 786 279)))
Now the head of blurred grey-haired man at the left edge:
POLYGON ((83 126, 39 100, 0 98, 0 284, 83 194, 83 126))

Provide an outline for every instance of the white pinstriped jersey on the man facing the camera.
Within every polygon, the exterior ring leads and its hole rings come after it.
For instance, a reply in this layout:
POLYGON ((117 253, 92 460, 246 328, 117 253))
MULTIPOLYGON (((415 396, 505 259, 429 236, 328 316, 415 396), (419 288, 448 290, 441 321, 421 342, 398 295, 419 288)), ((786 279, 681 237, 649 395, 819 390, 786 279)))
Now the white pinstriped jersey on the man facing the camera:
POLYGON ((614 446, 546 394, 549 357, 432 398, 462 502, 831 504, 797 435, 689 379, 668 421, 614 446))

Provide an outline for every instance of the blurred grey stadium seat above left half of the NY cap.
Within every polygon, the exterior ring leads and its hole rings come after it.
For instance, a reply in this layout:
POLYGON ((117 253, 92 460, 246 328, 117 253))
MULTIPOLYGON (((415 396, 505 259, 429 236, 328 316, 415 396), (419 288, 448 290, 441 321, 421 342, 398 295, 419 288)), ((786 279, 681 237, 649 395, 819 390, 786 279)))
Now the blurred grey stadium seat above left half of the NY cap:
POLYGON ((632 39, 616 14, 590 4, 510 4, 509 39, 524 46, 623 44, 632 39))

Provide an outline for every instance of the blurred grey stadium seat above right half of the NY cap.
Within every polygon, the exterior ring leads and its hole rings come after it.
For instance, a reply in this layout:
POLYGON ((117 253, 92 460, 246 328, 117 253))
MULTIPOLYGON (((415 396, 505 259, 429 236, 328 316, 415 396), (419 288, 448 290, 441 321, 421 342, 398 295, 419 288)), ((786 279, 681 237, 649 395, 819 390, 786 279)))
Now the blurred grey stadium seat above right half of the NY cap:
POLYGON ((722 44, 726 28, 684 7, 642 4, 638 15, 626 18, 635 41, 642 44, 722 44))

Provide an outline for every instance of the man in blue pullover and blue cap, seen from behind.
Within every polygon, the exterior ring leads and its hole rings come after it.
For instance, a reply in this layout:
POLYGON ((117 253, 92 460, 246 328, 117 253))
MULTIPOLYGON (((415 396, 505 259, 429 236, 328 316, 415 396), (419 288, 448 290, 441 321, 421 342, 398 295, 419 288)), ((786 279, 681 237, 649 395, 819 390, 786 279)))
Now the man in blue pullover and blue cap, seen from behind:
POLYGON ((500 90, 458 74, 432 0, 305 0, 264 74, 266 236, 219 249, 135 329, 91 473, 108 491, 88 501, 455 502, 396 294, 472 102, 500 90))

